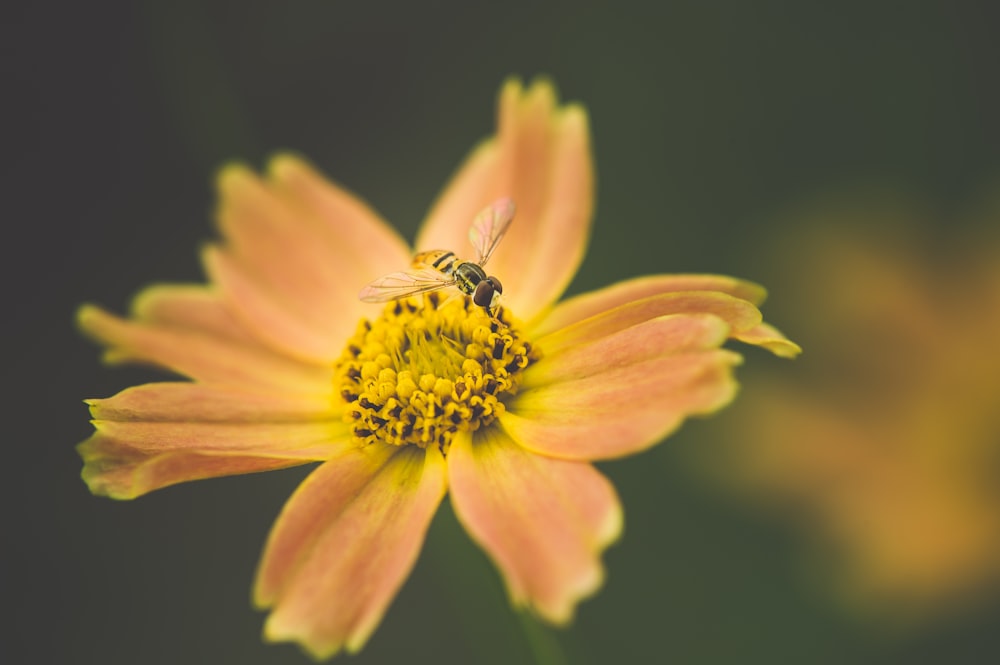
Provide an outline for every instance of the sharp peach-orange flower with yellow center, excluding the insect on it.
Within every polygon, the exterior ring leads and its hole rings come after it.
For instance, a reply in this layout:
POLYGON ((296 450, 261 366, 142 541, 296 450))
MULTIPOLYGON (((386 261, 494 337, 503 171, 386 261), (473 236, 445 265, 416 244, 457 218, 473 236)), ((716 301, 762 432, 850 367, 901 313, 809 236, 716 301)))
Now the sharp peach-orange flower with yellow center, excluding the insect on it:
POLYGON ((460 250, 484 204, 517 202, 489 264, 504 284, 495 317, 447 292, 360 302, 360 287, 411 261, 375 212, 296 157, 264 177, 225 168, 209 285, 150 287, 129 319, 80 310, 106 360, 190 379, 89 401, 91 491, 127 499, 320 462, 278 518, 254 589, 265 636, 318 658, 364 645, 446 492, 513 603, 568 622, 622 528, 591 461, 728 403, 740 356, 727 339, 798 350, 761 322, 763 289, 728 277, 649 276, 555 304, 587 241, 589 141, 585 111, 559 106, 551 84, 508 81, 497 135, 424 223, 418 248, 460 250))

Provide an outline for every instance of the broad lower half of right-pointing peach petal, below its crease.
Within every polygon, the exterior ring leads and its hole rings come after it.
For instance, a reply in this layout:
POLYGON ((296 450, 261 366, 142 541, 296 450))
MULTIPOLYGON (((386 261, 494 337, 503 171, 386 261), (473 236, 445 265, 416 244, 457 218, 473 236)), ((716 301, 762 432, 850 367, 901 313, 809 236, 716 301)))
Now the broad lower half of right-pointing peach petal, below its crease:
POLYGON ((589 374, 575 368, 585 378, 517 394, 500 417, 515 441, 543 455, 575 460, 644 450, 688 416, 728 404, 736 394, 732 367, 741 357, 715 349, 610 368, 598 354, 590 360, 589 374))

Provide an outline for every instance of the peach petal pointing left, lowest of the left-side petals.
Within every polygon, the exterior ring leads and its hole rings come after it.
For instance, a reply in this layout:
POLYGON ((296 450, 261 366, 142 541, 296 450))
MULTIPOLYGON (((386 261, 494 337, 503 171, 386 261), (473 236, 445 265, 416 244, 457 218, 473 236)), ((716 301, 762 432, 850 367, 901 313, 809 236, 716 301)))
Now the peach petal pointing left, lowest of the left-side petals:
POLYGON ((310 397, 153 383, 88 403, 96 431, 78 447, 83 479, 117 499, 326 459, 351 440, 339 416, 310 397))

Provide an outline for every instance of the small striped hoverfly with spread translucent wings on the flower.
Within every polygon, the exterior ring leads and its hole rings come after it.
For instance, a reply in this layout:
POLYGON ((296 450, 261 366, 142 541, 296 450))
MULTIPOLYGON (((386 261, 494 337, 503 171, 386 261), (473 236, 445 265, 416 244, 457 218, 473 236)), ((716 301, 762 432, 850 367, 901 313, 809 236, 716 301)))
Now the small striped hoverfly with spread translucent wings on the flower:
POLYGON ((456 286, 493 316, 503 286, 499 279, 487 275, 483 266, 490 260, 513 219, 514 202, 509 198, 497 199, 476 215, 469 228, 469 242, 476 250, 475 262, 464 261, 446 249, 419 252, 413 257, 410 270, 379 277, 361 289, 358 297, 364 302, 388 302, 456 286))

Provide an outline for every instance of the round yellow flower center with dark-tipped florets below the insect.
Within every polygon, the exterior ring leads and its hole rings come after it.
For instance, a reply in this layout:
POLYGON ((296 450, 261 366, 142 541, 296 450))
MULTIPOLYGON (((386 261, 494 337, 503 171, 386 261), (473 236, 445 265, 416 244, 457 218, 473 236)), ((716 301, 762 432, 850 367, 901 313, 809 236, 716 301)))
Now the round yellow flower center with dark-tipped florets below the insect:
POLYGON ((362 319, 334 381, 359 444, 436 444, 447 453, 456 432, 504 412, 538 357, 502 307, 491 318, 468 297, 435 292, 362 319))

